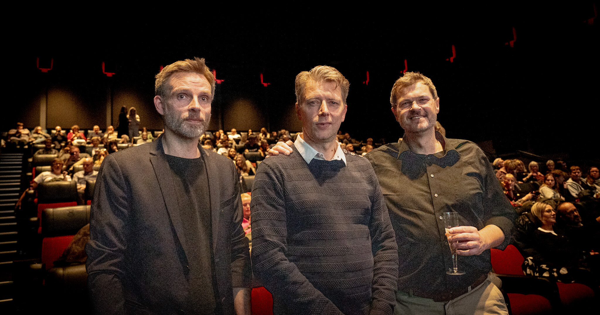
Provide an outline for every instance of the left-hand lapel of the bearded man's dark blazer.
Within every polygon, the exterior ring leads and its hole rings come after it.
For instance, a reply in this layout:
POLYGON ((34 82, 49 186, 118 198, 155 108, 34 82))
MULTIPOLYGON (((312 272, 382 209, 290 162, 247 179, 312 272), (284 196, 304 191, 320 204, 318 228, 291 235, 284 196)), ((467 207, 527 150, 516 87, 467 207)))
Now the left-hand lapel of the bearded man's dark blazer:
POLYGON ((152 163, 152 167, 154 168, 154 173, 158 180, 158 186, 160 187, 161 194, 163 194, 164 205, 169 213, 169 218, 173 224, 173 229, 175 229, 175 233, 179 239, 179 244, 181 244, 181 247, 183 247, 187 257, 189 244, 185 243, 181 215, 179 215, 179 212, 177 211, 178 203, 177 198, 175 197, 177 196, 177 192, 172 184, 173 171, 170 169, 169 163, 164 157, 162 137, 159 137, 152 144, 155 144, 155 146, 154 149, 150 150, 150 163, 152 163))

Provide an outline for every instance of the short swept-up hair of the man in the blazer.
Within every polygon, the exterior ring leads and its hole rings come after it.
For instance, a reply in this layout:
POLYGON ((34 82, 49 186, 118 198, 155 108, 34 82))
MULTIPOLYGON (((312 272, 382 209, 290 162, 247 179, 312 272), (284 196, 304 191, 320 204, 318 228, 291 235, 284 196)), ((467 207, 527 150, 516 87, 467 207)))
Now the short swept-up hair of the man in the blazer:
POLYGON ((173 62, 167 67, 164 67, 156 76, 154 82, 154 94, 160 97, 167 97, 170 93, 172 86, 170 85, 169 78, 179 72, 193 72, 200 74, 208 80, 211 85, 211 95, 215 96, 215 77, 212 75, 211 70, 206 67, 204 58, 194 57, 192 59, 185 59, 181 61, 173 62))

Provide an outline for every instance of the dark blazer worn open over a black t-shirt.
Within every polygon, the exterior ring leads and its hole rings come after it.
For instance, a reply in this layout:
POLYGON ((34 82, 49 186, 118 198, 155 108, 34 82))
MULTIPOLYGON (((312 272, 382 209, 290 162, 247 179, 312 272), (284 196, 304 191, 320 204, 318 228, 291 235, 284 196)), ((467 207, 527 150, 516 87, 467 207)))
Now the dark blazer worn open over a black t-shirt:
MULTIPOLYGON (((90 217, 88 287, 97 314, 182 314, 190 294, 185 244, 172 170, 161 137, 104 158, 90 217), (182 250, 181 250, 182 249, 182 250)), ((215 298, 235 314, 233 287, 250 287, 248 239, 242 229, 233 163, 200 147, 208 173, 215 298)))

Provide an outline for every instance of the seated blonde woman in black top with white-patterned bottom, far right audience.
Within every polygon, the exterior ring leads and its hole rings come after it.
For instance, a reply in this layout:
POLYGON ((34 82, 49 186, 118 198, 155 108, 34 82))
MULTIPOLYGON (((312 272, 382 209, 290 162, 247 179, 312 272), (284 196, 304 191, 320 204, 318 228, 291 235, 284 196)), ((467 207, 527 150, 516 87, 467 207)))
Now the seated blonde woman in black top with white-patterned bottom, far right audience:
POLYGON ((515 245, 526 257, 523 263, 526 274, 570 283, 574 281, 574 273, 580 272, 578 262, 583 257, 566 236, 554 232, 556 211, 552 204, 549 200, 533 204, 531 213, 538 228, 529 235, 515 235, 515 245))

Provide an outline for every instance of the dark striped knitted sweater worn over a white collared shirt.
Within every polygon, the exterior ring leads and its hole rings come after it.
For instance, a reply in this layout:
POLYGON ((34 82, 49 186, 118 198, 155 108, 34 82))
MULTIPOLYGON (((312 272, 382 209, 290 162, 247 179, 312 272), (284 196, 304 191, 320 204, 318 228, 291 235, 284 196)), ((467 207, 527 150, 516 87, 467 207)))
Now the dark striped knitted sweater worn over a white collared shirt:
POLYGON ((252 190, 255 275, 289 314, 392 314, 397 243, 371 164, 296 149, 263 161, 252 190))

